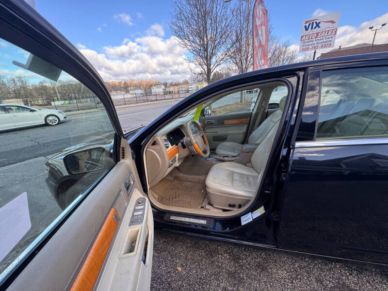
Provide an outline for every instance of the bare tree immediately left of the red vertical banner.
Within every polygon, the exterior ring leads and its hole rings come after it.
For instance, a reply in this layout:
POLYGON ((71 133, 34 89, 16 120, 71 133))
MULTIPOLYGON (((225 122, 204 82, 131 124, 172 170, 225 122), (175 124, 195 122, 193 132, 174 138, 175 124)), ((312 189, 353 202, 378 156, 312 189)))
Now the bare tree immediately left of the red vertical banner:
POLYGON ((252 9, 253 0, 237 1, 232 10, 233 31, 229 38, 231 50, 229 52, 229 67, 237 74, 248 72, 252 69, 253 60, 253 34, 252 34, 252 9))

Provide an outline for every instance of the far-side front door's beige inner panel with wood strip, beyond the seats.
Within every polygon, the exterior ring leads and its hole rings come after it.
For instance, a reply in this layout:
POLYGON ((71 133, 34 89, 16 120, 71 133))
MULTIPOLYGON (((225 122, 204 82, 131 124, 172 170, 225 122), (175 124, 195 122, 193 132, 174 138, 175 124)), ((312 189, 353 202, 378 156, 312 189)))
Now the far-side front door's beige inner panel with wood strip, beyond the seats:
POLYGON ((203 127, 210 149, 222 142, 243 143, 251 112, 226 113, 203 117, 203 127))

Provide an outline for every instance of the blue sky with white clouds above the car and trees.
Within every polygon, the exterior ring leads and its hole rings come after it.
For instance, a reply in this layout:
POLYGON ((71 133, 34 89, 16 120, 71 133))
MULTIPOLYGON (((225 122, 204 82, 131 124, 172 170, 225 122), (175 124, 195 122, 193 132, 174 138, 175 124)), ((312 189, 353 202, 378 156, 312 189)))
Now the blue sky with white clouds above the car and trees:
MULTIPOLYGON (((233 1, 238 0, 229 4, 233 1)), ((275 34, 290 40, 293 49, 299 46, 303 20, 314 13, 341 12, 335 47, 371 42, 368 26, 388 22, 388 6, 383 0, 265 3, 275 34)), ((77 45, 106 81, 190 77, 188 53, 169 29, 171 1, 36 0, 36 9, 77 45)), ((377 33, 375 42, 388 42, 388 26, 377 33)))

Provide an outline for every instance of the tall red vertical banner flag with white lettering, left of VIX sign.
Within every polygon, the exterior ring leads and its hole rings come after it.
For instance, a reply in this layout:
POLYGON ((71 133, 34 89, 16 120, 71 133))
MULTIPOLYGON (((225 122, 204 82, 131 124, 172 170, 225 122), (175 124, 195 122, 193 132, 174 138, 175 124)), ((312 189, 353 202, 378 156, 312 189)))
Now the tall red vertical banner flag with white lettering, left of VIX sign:
POLYGON ((264 0, 253 6, 253 69, 268 67, 268 11, 264 0))

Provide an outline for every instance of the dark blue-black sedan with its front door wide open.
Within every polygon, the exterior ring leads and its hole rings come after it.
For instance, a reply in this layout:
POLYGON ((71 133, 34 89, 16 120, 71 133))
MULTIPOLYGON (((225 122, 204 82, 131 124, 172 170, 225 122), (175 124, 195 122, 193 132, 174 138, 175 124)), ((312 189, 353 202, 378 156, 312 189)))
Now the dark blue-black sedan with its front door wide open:
POLYGON ((78 49, 23 2, 0 2, 0 11, 0 37, 89 88, 106 118, 87 132, 96 138, 109 123, 113 136, 51 158, 50 180, 73 178, 63 211, 2 274, 1 288, 147 289, 154 227, 388 265, 388 53, 232 76, 124 134, 78 49), (286 94, 269 109, 279 86, 286 94), (254 88, 251 112, 240 92, 254 88))

